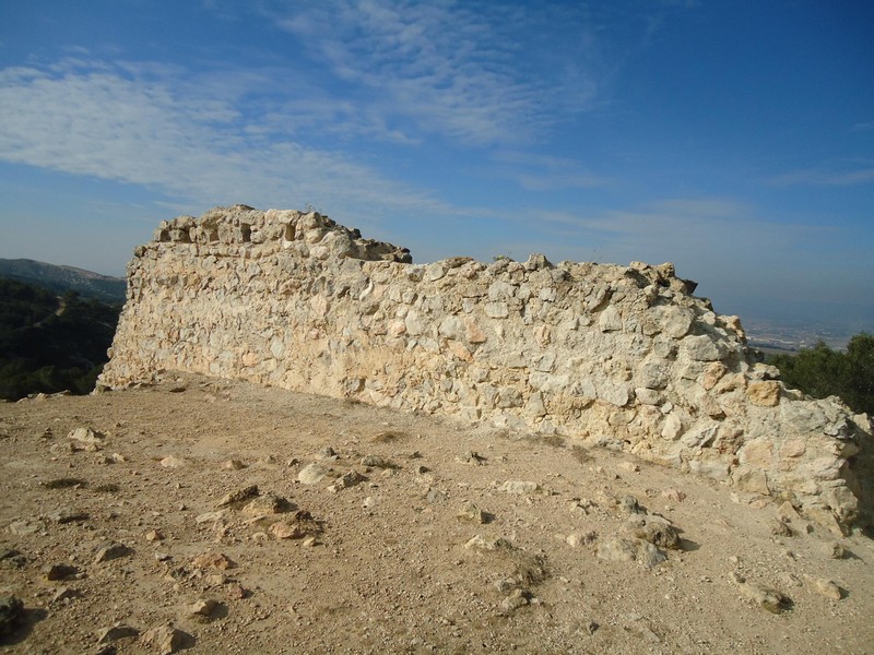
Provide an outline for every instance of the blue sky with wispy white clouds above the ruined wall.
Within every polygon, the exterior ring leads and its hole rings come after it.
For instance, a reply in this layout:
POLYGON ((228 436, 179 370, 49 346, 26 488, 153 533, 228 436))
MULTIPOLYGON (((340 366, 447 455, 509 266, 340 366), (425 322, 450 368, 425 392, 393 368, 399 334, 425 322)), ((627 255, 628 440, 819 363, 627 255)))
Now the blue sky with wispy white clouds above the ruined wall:
POLYGON ((312 205, 415 261, 673 261, 874 331, 874 3, 0 3, 0 257, 312 205))

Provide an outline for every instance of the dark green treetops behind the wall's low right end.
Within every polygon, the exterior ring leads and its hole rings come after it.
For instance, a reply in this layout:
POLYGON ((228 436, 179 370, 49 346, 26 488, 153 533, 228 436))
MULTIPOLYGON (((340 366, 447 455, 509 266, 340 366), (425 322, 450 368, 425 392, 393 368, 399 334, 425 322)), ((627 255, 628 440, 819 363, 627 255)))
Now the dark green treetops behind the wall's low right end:
POLYGON ((775 355, 768 362, 780 369, 787 386, 816 398, 840 396, 854 412, 874 414, 874 334, 860 332, 846 352, 819 342, 796 355, 775 355))

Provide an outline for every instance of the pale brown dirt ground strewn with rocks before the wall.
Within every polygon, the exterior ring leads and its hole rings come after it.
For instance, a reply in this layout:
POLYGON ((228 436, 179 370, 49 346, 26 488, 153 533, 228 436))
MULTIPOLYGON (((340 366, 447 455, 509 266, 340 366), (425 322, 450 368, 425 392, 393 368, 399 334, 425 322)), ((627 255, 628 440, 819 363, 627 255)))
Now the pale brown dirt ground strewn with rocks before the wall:
POLYGON ((241 382, 0 404, 0 499, 9 653, 874 652, 779 499, 241 382))

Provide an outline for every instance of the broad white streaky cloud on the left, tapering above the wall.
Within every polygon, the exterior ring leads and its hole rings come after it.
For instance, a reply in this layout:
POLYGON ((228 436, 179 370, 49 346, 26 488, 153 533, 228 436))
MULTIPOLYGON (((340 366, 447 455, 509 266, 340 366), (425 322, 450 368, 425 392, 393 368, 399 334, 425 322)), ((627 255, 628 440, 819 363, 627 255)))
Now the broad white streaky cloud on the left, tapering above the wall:
POLYGON ((441 206, 426 191, 342 153, 287 134, 268 139, 260 117, 241 111, 243 92, 178 76, 157 64, 87 60, 2 70, 0 159, 140 184, 208 206, 441 206))

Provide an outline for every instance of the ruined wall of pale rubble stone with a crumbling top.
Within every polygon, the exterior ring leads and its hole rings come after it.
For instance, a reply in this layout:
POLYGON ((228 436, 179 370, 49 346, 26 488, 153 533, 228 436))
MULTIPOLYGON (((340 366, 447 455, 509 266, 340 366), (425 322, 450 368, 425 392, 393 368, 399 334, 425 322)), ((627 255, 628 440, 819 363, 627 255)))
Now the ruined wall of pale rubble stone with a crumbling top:
POLYGON ((162 223, 99 384, 182 370, 488 421, 869 520, 866 417, 787 390, 671 264, 410 262, 317 213, 162 223))

